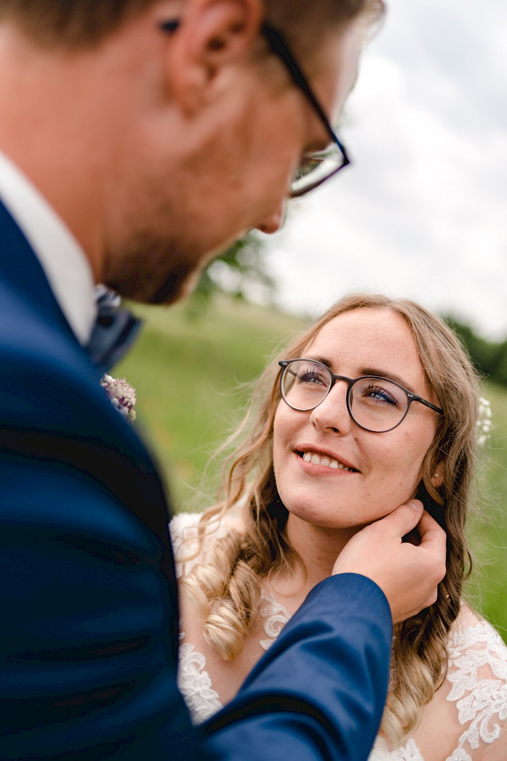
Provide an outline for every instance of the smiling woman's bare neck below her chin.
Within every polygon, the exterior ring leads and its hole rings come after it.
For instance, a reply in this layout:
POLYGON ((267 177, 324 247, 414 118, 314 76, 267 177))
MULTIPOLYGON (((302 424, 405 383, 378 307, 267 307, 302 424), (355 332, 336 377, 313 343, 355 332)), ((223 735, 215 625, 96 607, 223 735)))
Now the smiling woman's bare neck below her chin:
POLYGON ((279 587, 284 595, 303 594, 306 597, 315 584, 331 576, 337 556, 358 530, 360 527, 330 529, 314 526, 290 514, 285 531, 303 567, 295 563, 290 574, 281 575, 274 586, 279 587))

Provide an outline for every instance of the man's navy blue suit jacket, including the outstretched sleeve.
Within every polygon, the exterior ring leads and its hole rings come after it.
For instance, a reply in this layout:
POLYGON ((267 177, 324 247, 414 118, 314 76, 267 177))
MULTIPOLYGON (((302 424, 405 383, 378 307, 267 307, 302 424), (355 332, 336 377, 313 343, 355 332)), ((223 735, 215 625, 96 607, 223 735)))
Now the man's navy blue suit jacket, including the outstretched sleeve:
POLYGON ((315 587, 192 728, 166 499, 99 375, 0 204, 0 758, 366 759, 391 616, 356 575, 315 587))

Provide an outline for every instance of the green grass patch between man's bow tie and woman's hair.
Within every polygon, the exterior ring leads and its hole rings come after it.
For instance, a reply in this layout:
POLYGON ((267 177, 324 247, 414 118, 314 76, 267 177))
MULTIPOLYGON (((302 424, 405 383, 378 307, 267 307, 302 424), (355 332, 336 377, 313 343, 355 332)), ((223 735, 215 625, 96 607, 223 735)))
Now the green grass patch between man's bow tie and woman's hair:
POLYGON ((151 441, 176 509, 188 510, 211 454, 239 422, 249 398, 245 384, 304 323, 227 298, 198 318, 180 304, 134 308, 145 320, 143 333, 114 374, 137 390, 135 425, 151 441))

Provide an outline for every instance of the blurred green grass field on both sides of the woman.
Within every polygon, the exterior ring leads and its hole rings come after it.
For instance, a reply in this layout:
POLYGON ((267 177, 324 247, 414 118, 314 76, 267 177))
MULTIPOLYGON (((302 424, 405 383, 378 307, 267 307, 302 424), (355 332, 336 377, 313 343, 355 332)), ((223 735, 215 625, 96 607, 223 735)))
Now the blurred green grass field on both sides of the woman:
MULTIPOLYGON (((249 384, 303 320, 242 301, 216 298, 200 317, 185 306, 138 307, 141 339, 114 374, 138 393, 138 425, 151 442, 177 510, 214 499, 211 454, 239 422, 249 384), (241 385, 242 384, 242 385, 241 385), (208 483, 208 486, 207 486, 208 483)), ((471 521, 475 571, 468 597, 507 641, 507 390, 489 387, 494 431, 481 468, 480 514, 471 521)))

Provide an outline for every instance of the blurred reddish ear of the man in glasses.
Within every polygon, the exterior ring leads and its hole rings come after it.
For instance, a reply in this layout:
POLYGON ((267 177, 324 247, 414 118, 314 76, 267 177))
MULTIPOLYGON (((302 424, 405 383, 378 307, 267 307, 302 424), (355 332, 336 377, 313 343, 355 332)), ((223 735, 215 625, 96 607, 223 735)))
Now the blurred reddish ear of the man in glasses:
POLYGON ((192 116, 233 85, 220 75, 252 59, 263 13, 260 0, 189 0, 166 46, 167 82, 182 113, 192 116))

